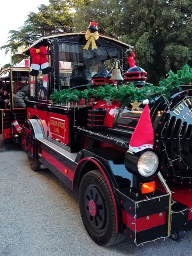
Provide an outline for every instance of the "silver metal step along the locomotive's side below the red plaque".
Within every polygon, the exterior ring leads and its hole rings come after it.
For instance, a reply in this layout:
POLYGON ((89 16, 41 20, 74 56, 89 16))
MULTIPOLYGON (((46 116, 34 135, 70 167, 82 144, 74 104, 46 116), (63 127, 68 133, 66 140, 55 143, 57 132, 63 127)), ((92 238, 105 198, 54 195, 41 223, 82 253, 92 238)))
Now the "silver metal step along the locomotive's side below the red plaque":
POLYGON ((76 156, 78 153, 70 153, 67 150, 55 145, 54 143, 52 143, 49 140, 46 140, 44 138, 38 138, 38 141, 40 141, 41 143, 43 143, 44 145, 46 145, 47 147, 55 150, 57 153, 67 157, 68 159, 70 159, 71 161, 75 162, 76 156))

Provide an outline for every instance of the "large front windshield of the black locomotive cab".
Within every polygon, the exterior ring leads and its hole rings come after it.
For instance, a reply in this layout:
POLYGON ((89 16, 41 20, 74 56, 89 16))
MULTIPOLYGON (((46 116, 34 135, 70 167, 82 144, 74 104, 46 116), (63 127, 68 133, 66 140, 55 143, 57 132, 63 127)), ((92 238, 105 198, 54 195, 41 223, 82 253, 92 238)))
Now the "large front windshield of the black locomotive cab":
MULTIPOLYGON (((107 44, 107 43, 106 43, 107 44)), ((59 88, 82 87, 92 83, 92 76, 103 68, 110 70, 111 59, 119 59, 120 50, 114 45, 99 45, 97 49, 84 50, 84 44, 62 42, 59 44, 59 88)))

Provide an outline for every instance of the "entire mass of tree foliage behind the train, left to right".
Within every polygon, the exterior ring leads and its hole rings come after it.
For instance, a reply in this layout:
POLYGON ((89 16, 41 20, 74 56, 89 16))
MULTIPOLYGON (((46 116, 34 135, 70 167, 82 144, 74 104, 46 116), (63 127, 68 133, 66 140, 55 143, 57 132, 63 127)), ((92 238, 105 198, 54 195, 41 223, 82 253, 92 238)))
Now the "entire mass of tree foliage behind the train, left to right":
POLYGON ((25 57, 18 49, 42 36, 86 31, 91 20, 100 33, 134 46, 136 65, 148 72, 150 83, 158 84, 170 69, 192 66, 190 0, 49 0, 18 31, 11 30, 0 49, 17 53, 16 63, 25 57))

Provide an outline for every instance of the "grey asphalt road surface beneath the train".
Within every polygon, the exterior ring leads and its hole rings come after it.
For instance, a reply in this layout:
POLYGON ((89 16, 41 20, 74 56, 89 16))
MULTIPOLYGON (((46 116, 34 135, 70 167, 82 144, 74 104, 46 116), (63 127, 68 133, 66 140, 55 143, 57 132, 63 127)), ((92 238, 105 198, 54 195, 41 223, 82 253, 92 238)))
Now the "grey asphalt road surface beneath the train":
POLYGON ((180 243, 96 245, 74 194, 50 171, 33 172, 25 153, 0 140, 0 256, 190 256, 191 244, 192 232, 180 243))

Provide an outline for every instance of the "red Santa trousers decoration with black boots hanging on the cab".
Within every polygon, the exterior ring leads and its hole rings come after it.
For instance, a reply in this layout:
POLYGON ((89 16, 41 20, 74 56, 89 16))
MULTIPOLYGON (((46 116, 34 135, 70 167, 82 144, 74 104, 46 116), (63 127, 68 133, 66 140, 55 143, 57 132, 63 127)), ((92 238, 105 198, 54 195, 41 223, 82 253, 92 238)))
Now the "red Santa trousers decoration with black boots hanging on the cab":
POLYGON ((43 74, 48 74, 50 72, 49 63, 47 60, 47 49, 45 46, 39 47, 39 49, 36 48, 30 48, 29 52, 31 54, 32 60, 31 60, 31 76, 38 76, 40 65, 41 70, 43 74))

